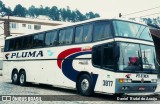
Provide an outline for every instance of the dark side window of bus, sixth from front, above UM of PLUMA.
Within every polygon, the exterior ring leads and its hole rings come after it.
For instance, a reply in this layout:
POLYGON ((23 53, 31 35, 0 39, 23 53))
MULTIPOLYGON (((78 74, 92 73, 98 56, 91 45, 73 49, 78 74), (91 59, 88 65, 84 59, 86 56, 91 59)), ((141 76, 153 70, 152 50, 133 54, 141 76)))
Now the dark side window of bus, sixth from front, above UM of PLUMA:
POLYGON ((24 37, 23 48, 32 48, 32 36, 24 37))

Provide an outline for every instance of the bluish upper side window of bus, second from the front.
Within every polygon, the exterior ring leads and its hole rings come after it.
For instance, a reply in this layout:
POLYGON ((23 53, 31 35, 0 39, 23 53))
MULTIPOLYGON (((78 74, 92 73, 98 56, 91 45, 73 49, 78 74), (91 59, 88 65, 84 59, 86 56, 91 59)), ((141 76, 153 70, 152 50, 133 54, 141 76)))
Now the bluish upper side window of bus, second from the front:
POLYGON ((91 42, 92 24, 76 27, 75 43, 91 42))

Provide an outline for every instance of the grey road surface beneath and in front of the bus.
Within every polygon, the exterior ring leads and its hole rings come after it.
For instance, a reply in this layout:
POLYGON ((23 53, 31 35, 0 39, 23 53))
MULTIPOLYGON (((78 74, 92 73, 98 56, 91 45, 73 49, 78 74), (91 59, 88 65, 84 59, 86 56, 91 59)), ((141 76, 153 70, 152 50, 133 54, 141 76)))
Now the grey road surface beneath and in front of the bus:
MULTIPOLYGON (((158 86, 158 88, 160 85, 158 86)), ((122 103, 160 103, 159 92, 156 94, 130 94, 124 96, 113 96, 105 94, 94 94, 92 97, 85 97, 78 95, 75 90, 68 90, 57 88, 50 85, 32 84, 29 83, 25 87, 14 85, 10 80, 6 80, 0 76, 0 104, 17 104, 17 103, 30 103, 30 104, 43 104, 43 103, 73 103, 73 104, 87 104, 87 103, 104 103, 108 104, 122 104, 122 103), (3 95, 3 96, 1 96, 3 95), (6 101, 5 97, 9 97, 11 101, 6 101), (5 99, 4 99, 5 98, 5 99), (129 101, 131 100, 131 101, 129 101), (139 101, 141 100, 141 101, 139 101), (142 101, 144 100, 144 101, 142 101), (149 100, 149 101, 148 101, 149 100)))

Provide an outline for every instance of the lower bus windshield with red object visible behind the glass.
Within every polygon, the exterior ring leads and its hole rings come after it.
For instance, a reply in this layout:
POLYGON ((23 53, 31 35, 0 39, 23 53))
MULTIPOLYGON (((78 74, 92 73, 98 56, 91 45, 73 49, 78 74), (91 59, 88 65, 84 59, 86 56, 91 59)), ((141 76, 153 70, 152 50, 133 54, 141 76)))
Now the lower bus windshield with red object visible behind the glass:
POLYGON ((119 71, 156 72, 153 46, 119 42, 118 47, 120 53, 117 60, 119 71))

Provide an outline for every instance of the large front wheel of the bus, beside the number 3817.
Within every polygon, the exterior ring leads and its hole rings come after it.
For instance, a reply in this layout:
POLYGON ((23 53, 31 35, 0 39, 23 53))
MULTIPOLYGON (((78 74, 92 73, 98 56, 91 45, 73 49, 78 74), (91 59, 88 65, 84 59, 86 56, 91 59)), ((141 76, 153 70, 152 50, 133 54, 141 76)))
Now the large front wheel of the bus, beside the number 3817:
POLYGON ((93 94, 92 79, 89 75, 83 74, 77 83, 77 90, 81 95, 90 96, 93 94))

